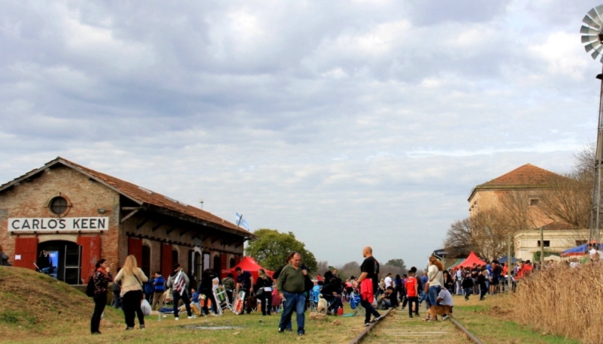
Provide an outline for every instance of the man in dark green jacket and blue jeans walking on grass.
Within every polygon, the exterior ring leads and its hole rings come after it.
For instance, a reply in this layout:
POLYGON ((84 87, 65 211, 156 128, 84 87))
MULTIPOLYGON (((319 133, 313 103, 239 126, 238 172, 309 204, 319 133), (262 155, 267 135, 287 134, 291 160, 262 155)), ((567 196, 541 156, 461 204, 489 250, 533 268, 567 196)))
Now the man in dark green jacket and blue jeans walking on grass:
POLYGON ((305 334, 304 311, 306 296, 304 295, 304 282, 306 275, 308 275, 308 271, 301 268, 301 256, 295 252, 291 260, 289 260, 289 264, 283 267, 276 284, 279 296, 283 299, 283 313, 280 315, 279 333, 285 331, 286 325, 291 322, 293 310, 295 310, 297 335, 303 336, 305 334))

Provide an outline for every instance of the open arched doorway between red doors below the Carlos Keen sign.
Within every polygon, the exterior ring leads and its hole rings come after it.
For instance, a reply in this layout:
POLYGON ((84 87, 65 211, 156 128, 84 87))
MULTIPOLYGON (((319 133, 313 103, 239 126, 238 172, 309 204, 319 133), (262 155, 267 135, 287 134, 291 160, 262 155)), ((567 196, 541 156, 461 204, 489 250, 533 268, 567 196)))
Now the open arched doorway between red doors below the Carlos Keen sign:
POLYGON ((36 257, 37 266, 49 276, 68 284, 80 284, 81 246, 77 243, 66 240, 41 242, 36 257))

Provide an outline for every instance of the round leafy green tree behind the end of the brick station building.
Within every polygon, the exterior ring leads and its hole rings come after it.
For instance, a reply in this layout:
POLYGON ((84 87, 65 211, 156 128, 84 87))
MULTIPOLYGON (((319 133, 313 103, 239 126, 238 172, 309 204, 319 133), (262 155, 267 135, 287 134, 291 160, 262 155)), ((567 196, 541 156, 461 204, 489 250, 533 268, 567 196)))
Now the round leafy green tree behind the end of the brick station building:
POLYGON ((301 261, 311 272, 317 271, 314 254, 306 249, 303 242, 295 239, 295 234, 280 233, 277 230, 260 228, 253 232, 257 239, 250 242, 245 254, 253 257, 258 264, 269 270, 276 270, 285 264, 285 258, 291 252, 299 252, 301 261))

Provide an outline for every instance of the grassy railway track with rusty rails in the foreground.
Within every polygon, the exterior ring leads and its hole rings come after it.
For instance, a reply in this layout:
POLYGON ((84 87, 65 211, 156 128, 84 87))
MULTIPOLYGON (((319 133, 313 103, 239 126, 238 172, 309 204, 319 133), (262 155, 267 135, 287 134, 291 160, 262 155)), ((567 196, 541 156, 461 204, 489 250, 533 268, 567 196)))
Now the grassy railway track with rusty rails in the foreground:
POLYGON ((422 316, 410 318, 408 311, 390 310, 385 319, 366 328, 350 344, 482 344, 453 319, 437 322, 421 319, 422 316))

